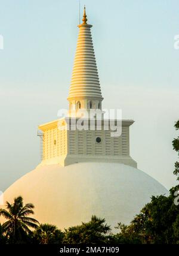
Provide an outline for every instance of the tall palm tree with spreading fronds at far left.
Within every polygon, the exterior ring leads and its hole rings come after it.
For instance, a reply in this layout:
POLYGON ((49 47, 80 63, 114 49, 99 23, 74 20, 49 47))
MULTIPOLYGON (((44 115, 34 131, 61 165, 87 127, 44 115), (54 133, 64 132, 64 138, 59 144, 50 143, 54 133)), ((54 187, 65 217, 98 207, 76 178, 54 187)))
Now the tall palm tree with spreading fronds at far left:
POLYGON ((33 212, 33 204, 27 203, 23 205, 21 196, 14 198, 14 203, 6 202, 6 208, 0 209, 0 216, 4 216, 8 221, 2 224, 5 235, 12 243, 21 243, 27 234, 32 233, 30 228, 37 228, 39 222, 36 219, 30 218, 33 212))

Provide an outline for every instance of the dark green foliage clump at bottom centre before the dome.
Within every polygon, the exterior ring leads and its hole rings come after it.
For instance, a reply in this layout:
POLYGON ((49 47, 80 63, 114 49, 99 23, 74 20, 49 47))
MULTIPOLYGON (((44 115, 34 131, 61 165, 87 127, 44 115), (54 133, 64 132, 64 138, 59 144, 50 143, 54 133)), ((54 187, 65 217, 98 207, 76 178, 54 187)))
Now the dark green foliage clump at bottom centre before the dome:
POLYGON ((105 219, 92 216, 91 221, 66 229, 63 243, 107 243, 109 231, 110 226, 105 224, 105 219))

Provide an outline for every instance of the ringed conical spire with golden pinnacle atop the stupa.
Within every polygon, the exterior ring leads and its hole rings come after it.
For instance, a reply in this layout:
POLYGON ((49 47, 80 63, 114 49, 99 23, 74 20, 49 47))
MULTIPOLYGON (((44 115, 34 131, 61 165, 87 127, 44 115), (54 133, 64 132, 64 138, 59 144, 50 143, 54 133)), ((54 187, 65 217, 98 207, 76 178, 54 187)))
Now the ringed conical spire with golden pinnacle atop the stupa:
POLYGON ((87 105, 89 106, 89 104, 91 106, 91 102, 93 101, 95 102, 94 105, 98 105, 98 107, 92 108, 97 109, 101 106, 103 97, 101 95, 100 81, 92 44, 92 25, 87 24, 85 8, 82 21, 83 23, 78 25, 78 43, 73 66, 72 82, 67 100, 72 104, 80 101, 84 109, 88 108, 87 105), (86 103, 84 103, 84 100, 86 100, 86 103))

